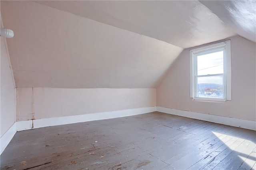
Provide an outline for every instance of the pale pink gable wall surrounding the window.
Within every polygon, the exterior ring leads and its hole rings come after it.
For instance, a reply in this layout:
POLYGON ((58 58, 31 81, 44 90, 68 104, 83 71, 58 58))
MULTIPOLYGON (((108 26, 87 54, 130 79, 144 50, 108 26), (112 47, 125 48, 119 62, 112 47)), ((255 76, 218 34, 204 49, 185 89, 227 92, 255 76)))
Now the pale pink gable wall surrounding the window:
POLYGON ((256 43, 239 36, 229 39, 232 60, 231 101, 202 102, 190 98, 190 49, 184 49, 156 89, 156 106, 255 121, 256 43))

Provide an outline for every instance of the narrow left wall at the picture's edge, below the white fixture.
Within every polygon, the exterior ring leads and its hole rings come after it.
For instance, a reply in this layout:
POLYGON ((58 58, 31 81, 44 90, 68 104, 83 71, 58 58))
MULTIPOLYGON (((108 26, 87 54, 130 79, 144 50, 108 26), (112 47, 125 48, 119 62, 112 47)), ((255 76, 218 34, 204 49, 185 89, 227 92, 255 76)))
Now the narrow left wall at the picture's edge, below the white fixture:
POLYGON ((10 69, 8 53, 3 37, 1 39, 0 61, 0 127, 1 137, 15 121, 15 87, 10 69))

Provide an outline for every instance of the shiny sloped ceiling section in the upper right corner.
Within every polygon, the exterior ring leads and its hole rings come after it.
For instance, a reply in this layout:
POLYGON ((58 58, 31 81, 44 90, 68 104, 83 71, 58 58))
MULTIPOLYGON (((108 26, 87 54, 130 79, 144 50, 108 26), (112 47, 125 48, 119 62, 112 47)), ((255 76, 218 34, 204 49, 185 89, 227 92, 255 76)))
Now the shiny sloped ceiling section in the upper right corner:
POLYGON ((256 42, 256 0, 200 0, 240 36, 256 42))

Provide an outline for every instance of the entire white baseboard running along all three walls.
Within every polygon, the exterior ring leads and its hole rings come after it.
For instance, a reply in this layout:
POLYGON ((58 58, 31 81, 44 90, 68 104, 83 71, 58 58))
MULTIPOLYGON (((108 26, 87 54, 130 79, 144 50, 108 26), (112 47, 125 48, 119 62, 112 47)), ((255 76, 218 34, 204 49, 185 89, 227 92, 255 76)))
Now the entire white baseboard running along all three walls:
POLYGON ((256 121, 236 119, 236 118, 232 118, 232 117, 223 117, 223 116, 218 116, 218 115, 210 115, 210 114, 197 113, 197 112, 192 112, 192 111, 184 111, 184 110, 154 106, 154 107, 144 107, 144 108, 138 108, 138 109, 127 109, 127 110, 120 110, 120 111, 92 113, 92 114, 85 114, 85 115, 74 115, 74 116, 55 117, 55 118, 48 118, 48 119, 17 121, 0 138, 0 146, 1 146, 0 154, 2 154, 4 149, 10 143, 10 141, 11 141, 12 137, 15 135, 16 131, 32 129, 32 127, 34 129, 34 128, 40 128, 40 127, 66 125, 66 124, 80 123, 80 122, 86 122, 86 121, 112 119, 112 118, 117 118, 117 117, 125 117, 125 116, 150 113, 153 111, 159 111, 159 112, 168 113, 168 114, 172 114, 172 115, 179 115, 179 116, 183 116, 183 117, 190 117, 193 119, 210 121, 210 122, 214 122, 214 123, 221 123, 224 125, 230 125, 230 126, 235 126, 235 127, 242 127, 242 128, 251 129, 254 131, 256 130, 256 121))

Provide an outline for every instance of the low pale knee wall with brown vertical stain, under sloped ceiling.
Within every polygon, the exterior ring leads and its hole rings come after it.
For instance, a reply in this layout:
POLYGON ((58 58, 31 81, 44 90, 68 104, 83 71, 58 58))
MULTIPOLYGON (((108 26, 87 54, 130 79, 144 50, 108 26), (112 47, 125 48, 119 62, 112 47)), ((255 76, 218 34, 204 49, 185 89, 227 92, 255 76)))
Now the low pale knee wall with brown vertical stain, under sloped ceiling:
POLYGON ((156 106, 156 89, 17 88, 16 120, 156 106))

